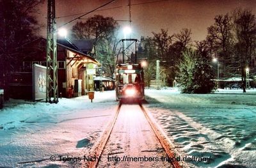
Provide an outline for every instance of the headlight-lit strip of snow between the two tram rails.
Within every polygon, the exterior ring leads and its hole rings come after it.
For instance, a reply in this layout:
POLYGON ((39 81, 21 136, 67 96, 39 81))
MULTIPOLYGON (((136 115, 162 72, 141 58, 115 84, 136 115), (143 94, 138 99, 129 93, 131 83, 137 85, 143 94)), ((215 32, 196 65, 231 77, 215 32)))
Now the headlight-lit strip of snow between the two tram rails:
POLYGON ((140 106, 128 104, 120 109, 99 167, 171 167, 161 160, 166 156, 140 106))

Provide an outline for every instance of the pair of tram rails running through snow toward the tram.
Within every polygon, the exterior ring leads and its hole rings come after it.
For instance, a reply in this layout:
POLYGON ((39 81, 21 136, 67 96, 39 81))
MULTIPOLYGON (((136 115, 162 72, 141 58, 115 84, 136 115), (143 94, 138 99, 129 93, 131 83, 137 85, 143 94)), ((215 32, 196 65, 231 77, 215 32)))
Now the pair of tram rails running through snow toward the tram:
MULTIPOLYGON (((145 119, 147 119, 148 124, 150 125, 150 128, 152 128, 154 135, 156 135, 157 140, 159 141, 159 144, 164 149, 164 152, 168 156, 168 158, 174 158, 175 154, 171 150, 173 148, 172 142, 168 139, 168 137, 164 134, 163 130, 157 125, 156 121, 148 114, 148 111, 143 107, 143 105, 139 105, 141 111, 143 112, 143 115, 145 116, 145 119)), ((106 129, 104 130, 104 133, 102 134, 102 137, 100 138, 100 141, 98 144, 93 148, 93 152, 90 154, 92 157, 95 158, 101 158, 102 154, 104 153, 104 149, 106 148, 106 145, 108 144, 109 138, 111 137, 111 133, 113 132, 113 128, 115 126, 116 120, 118 119, 118 115, 121 113, 120 109, 122 107, 122 103, 118 104, 118 107, 115 111, 114 118, 111 120, 111 122, 108 124, 106 129)), ((100 159, 95 159, 92 162, 88 162, 88 167, 94 168, 98 167, 100 162, 100 159)), ((170 166, 172 167, 182 167, 179 162, 174 161, 170 162, 170 166)))

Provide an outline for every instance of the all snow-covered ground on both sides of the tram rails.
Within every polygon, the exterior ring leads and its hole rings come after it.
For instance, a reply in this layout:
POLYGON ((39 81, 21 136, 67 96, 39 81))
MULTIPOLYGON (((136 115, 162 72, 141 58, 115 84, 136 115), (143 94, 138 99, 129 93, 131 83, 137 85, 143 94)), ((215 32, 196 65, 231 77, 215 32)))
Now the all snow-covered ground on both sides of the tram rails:
MULTIPOLYGON (((256 89, 187 95, 177 89, 145 91, 152 113, 182 157, 211 157, 198 167, 256 167, 256 89)), ((11 100, 0 110, 0 167, 79 167, 51 156, 87 156, 112 119, 115 91, 63 98, 58 104, 11 100)), ((120 130, 122 131, 122 130, 120 130)), ((131 151, 132 152, 132 151, 131 151)), ((130 153, 132 155, 132 153, 130 153)))

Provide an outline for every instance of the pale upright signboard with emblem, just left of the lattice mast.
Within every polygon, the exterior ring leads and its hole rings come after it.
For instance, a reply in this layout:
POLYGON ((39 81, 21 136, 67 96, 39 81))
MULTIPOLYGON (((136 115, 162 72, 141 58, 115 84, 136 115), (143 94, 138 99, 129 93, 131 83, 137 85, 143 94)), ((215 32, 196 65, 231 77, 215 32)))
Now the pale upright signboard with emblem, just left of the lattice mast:
POLYGON ((46 66, 33 65, 33 100, 46 98, 46 66))

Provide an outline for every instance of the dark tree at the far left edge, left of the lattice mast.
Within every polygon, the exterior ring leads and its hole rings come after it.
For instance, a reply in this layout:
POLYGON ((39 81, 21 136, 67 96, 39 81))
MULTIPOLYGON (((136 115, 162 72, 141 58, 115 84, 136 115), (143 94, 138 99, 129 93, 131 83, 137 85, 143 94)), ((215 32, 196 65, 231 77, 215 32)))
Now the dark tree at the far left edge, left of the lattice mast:
POLYGON ((38 0, 0 1, 0 88, 9 97, 10 72, 20 62, 18 47, 35 38, 39 30, 35 17, 38 0))

